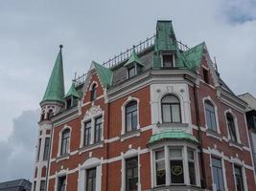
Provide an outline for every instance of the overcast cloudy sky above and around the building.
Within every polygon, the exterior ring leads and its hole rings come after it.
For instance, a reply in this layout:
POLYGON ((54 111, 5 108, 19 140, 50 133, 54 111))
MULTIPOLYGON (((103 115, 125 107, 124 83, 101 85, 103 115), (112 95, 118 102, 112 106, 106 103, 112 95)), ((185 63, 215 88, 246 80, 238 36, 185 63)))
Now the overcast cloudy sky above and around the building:
POLYGON ((236 94, 256 96, 256 0, 0 1, 0 181, 31 179, 38 103, 63 48, 65 85, 173 20, 189 47, 205 41, 236 94))

